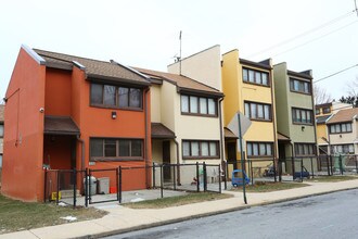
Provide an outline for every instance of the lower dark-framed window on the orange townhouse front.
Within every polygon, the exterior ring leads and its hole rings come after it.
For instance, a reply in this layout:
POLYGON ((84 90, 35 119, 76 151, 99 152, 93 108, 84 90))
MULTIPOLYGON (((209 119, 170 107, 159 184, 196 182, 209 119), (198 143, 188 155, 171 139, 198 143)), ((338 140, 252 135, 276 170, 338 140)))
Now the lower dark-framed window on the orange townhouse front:
POLYGON ((91 161, 142 160, 142 139, 90 139, 91 161))

